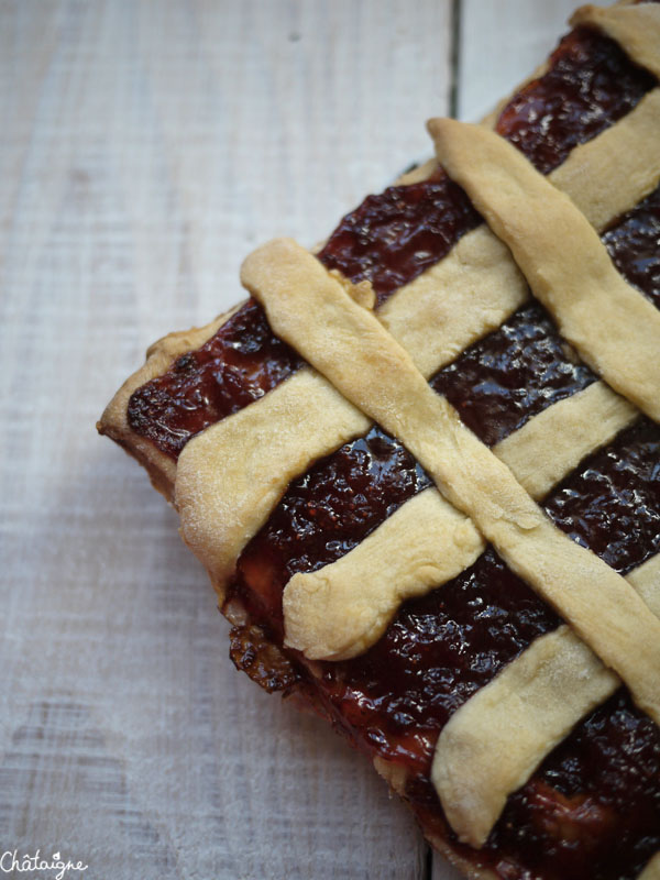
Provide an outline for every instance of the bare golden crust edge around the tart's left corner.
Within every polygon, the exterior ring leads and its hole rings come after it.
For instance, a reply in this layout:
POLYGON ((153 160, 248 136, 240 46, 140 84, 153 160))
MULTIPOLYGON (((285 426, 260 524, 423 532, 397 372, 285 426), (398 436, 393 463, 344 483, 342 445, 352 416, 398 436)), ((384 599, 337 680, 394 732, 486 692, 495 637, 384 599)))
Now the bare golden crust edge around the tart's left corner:
POLYGON ((128 420, 129 398, 134 391, 146 382, 166 373, 174 361, 188 351, 195 351, 215 336, 218 330, 244 304, 240 302, 229 311, 219 315, 204 327, 193 327, 189 330, 178 330, 158 339, 146 350, 145 363, 123 383, 114 397, 110 400, 100 420, 97 430, 119 443, 129 455, 132 455, 146 469, 150 480, 167 501, 174 503, 174 481, 176 477, 176 461, 131 428, 128 420))

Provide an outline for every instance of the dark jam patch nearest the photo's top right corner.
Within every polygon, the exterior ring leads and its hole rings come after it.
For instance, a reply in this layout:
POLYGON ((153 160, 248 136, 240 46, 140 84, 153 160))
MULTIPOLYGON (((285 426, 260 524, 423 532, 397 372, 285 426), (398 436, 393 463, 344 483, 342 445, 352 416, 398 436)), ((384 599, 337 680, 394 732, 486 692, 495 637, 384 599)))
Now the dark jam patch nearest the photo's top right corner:
POLYGON ((550 58, 550 69, 504 108, 497 131, 543 174, 578 144, 629 112, 656 85, 616 43, 576 28, 550 58))

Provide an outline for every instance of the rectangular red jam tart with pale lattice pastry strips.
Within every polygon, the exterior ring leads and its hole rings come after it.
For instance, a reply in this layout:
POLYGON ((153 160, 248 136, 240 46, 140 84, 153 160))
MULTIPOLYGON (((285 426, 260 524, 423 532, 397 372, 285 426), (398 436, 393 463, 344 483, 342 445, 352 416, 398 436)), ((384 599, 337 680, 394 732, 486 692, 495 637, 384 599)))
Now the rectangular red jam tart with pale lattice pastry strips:
POLYGON ((253 300, 157 343, 101 422, 174 499, 234 660, 476 877, 660 877, 660 7, 573 23, 497 117, 429 122, 443 172, 317 255, 251 254, 253 300), (579 125, 539 112, 559 92, 579 125))

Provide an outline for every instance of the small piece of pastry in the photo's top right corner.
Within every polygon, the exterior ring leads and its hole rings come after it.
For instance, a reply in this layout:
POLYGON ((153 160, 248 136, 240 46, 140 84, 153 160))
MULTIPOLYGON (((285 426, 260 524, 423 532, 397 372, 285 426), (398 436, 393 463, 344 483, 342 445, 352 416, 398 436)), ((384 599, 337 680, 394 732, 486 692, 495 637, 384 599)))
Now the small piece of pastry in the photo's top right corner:
POLYGON ((590 24, 609 36, 640 67, 660 78, 660 8, 654 3, 594 7, 575 10, 569 24, 590 24))

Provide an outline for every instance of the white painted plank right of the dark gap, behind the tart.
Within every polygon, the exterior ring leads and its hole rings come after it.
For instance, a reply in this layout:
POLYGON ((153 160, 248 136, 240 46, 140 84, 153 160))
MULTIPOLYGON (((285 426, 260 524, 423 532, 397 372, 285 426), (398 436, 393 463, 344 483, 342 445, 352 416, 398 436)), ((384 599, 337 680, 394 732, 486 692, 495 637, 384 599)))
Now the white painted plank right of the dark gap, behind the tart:
MULTIPOLYGON (((457 103, 460 119, 476 121, 512 94, 569 30, 574 0, 462 0, 457 103)), ((433 857, 433 880, 462 875, 433 857)))

